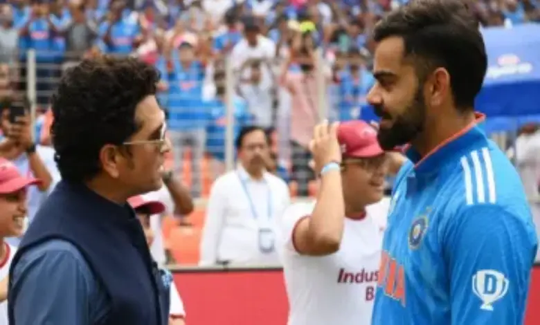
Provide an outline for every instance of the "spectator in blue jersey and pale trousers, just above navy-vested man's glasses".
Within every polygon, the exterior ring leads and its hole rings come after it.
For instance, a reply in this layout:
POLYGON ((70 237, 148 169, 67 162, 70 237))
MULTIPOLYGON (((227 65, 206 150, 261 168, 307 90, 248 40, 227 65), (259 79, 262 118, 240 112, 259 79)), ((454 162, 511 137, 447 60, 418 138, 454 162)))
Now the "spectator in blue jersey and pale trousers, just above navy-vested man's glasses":
POLYGON ((161 89, 165 89, 174 166, 181 168, 186 147, 192 150, 192 196, 201 194, 201 161, 204 158, 208 109, 202 103, 204 66, 195 58, 194 44, 183 41, 157 62, 161 89))

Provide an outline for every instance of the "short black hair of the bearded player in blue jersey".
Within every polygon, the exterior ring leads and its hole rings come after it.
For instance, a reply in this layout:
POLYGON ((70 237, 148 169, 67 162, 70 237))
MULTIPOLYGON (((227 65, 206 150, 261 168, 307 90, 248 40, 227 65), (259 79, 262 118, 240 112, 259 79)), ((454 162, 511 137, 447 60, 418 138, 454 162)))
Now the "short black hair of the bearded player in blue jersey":
POLYGON ((474 106, 487 55, 478 22, 461 0, 412 0, 381 19, 373 33, 377 42, 402 37, 404 55, 413 58, 421 81, 435 68, 446 68, 458 109, 474 106))

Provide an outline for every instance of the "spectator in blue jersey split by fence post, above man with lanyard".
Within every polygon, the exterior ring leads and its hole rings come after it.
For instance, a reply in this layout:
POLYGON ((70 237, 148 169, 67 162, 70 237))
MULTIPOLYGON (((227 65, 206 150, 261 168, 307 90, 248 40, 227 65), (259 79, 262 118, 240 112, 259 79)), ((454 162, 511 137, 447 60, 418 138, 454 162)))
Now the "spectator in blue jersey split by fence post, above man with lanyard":
MULTIPOLYGON (((224 173, 225 169, 225 138, 226 138, 226 124, 227 124, 227 111, 226 104, 227 93, 224 84, 225 75, 222 72, 215 73, 214 80, 216 84, 216 96, 213 100, 206 102, 210 111, 210 123, 206 131, 206 151, 210 154, 213 160, 213 176, 217 176, 224 173)), ((234 96, 234 133, 235 139, 242 127, 253 122, 253 118, 249 113, 247 103, 242 97, 234 96)))

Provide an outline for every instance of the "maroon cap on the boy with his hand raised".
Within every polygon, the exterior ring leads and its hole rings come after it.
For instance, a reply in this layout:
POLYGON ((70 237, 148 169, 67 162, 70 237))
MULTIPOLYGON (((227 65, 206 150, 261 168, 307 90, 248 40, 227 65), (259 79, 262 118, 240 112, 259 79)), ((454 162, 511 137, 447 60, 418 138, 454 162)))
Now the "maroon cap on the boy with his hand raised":
POLYGON ((377 141, 377 130, 362 120, 341 122, 337 133, 343 156, 368 158, 384 153, 377 141))

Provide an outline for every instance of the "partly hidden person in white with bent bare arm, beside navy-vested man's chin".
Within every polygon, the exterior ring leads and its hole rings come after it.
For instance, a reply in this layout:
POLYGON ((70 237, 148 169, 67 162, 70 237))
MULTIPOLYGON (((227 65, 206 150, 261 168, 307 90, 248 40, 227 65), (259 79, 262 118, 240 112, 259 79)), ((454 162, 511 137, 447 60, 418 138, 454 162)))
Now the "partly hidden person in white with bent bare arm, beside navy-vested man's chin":
POLYGON ((168 263, 168 254, 165 252, 165 244, 163 242, 163 232, 161 231, 161 221, 165 216, 177 217, 181 225, 187 221, 185 216, 193 211, 193 199, 190 196, 189 190, 184 186, 181 180, 174 175, 172 170, 163 171, 163 186, 154 192, 143 194, 147 201, 159 201, 165 209, 160 214, 152 214, 150 216, 150 228, 154 232, 154 240, 150 245, 150 253, 158 266, 163 266, 168 263))

